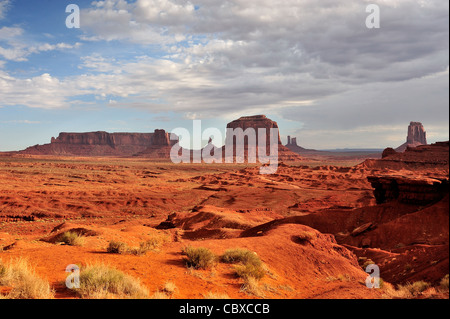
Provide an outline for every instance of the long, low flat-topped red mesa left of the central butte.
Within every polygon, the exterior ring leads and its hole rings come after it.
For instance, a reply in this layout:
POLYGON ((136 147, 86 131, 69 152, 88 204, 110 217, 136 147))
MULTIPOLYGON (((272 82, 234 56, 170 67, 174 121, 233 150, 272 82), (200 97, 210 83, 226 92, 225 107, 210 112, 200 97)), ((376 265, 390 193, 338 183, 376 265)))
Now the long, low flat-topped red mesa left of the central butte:
MULTIPOLYGON (((60 133, 52 137, 49 144, 31 146, 20 153, 30 155, 73 156, 135 156, 151 149, 166 149, 172 145, 164 130, 154 133, 108 133, 103 131, 86 133, 60 133)), ((166 150, 161 155, 165 156, 166 150)))

